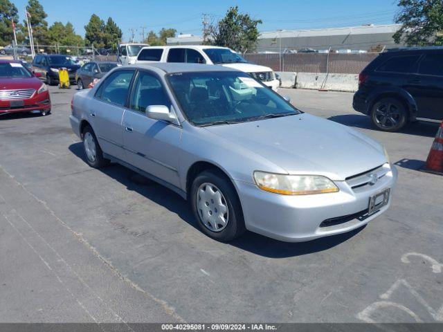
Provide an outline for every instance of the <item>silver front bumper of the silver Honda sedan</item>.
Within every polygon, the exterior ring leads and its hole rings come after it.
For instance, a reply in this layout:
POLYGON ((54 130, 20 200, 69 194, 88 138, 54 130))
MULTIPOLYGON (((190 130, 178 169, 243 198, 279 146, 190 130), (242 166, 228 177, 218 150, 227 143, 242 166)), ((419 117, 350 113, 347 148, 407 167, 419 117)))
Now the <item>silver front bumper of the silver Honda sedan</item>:
POLYGON ((390 172, 374 185, 352 190, 345 181, 336 181, 340 191, 332 194, 284 196, 264 192, 252 183, 235 184, 248 230, 281 241, 301 242, 365 225, 388 210, 396 182, 397 169, 391 165, 390 172), (391 190, 388 205, 365 216, 370 196, 387 188, 391 190), (331 219, 338 222, 327 223, 331 219))

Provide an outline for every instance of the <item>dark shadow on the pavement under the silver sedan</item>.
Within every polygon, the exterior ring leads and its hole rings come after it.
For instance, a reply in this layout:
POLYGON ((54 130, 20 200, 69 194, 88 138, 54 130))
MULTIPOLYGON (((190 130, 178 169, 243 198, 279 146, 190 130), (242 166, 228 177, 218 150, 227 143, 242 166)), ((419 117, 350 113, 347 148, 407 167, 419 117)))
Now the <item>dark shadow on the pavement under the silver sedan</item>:
MULTIPOLYGON (((75 156, 82 159, 84 163, 87 163, 82 142, 70 145, 69 150, 75 156)), ((183 221, 199 230, 197 221, 195 221, 188 202, 179 196, 179 194, 118 164, 112 163, 108 167, 99 170, 125 185, 127 190, 132 190, 145 196, 147 199, 150 199, 150 201, 153 201, 174 214, 177 214, 183 221)), ((246 232, 242 237, 239 237, 239 239, 226 244, 263 257, 294 257, 307 255, 313 252, 320 252, 337 246, 338 244, 347 241, 347 239, 354 237, 354 235, 363 230, 364 227, 365 226, 362 226, 361 228, 345 234, 338 234, 299 243, 282 242, 253 232, 246 232)), ((206 237, 206 235, 201 233, 201 237, 206 237)))

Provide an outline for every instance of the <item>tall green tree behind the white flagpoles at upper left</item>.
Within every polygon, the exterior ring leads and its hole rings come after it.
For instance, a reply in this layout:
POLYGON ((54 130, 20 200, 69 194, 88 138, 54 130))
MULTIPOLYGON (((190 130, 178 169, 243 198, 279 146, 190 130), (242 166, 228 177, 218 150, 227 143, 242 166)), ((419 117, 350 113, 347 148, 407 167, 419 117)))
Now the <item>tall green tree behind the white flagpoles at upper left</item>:
MULTIPOLYGON (((48 15, 46 15, 43 6, 38 0, 29 0, 26 8, 29 13, 28 19, 30 21, 30 26, 33 29, 34 44, 36 46, 48 44, 48 22, 45 20, 48 15)), ((24 33, 26 39, 28 39, 28 26, 26 20, 24 20, 24 26, 24 33)))

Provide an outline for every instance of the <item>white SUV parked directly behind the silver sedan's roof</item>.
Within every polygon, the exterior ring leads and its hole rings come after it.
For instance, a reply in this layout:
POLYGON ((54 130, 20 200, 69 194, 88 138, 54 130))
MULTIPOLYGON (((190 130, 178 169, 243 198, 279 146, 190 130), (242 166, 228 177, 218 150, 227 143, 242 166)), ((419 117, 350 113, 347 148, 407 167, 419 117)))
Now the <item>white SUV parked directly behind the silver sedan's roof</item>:
POLYGON ((269 67, 250 64, 244 57, 227 47, 205 45, 149 46, 143 47, 135 61, 149 62, 190 62, 195 64, 219 64, 248 73, 260 80, 273 91, 278 90, 280 81, 269 67))

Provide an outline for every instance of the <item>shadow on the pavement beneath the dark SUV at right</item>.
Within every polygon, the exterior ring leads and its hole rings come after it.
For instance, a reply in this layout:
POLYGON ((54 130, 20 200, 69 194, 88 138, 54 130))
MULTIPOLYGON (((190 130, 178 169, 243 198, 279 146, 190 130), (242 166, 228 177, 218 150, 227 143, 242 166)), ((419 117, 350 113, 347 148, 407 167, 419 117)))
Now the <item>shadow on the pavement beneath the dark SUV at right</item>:
MULTIPOLYGON (((343 114, 341 116, 331 116, 330 118, 327 118, 327 120, 345 124, 349 127, 379 131, 374 127, 369 116, 364 116, 363 114, 343 114)), ((415 122, 409 124, 399 132, 406 133, 408 135, 435 137, 437 129, 437 123, 415 122)))

